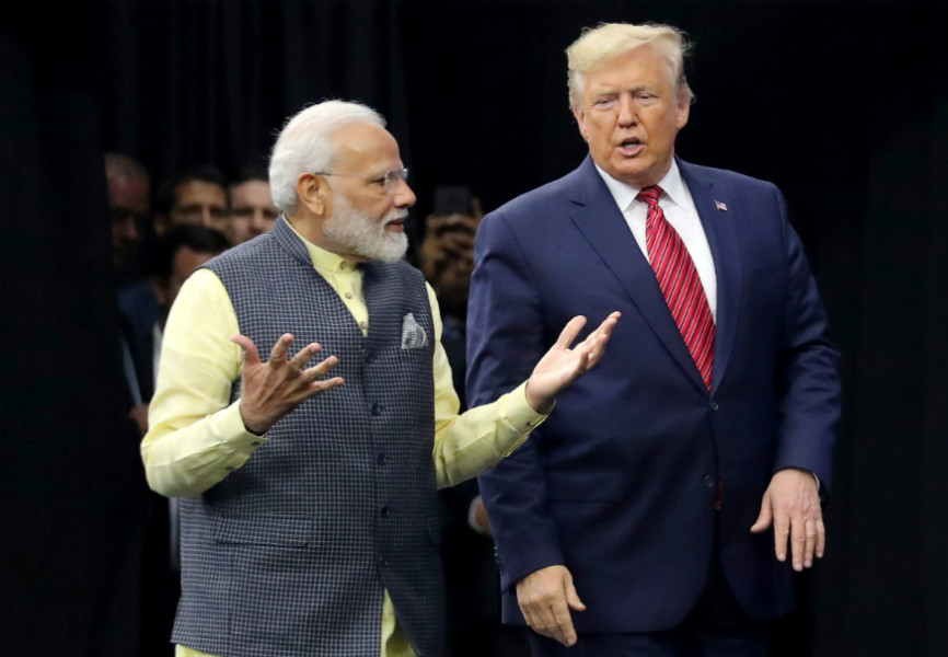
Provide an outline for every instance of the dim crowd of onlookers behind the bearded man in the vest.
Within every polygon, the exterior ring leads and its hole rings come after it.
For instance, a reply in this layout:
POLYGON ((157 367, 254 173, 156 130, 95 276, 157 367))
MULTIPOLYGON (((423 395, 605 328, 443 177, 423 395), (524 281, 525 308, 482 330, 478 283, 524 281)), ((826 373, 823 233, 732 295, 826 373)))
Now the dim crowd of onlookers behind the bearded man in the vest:
MULTIPOLYGON (((187 277, 231 246, 267 232, 279 218, 266 170, 248 168, 228 181, 212 165, 169 176, 157 187, 136 159, 106 153, 114 275, 128 414, 141 436, 154 391, 161 338, 172 303, 187 277)), ((435 212, 409 258, 438 293, 442 345, 454 387, 464 400, 467 291, 481 204, 463 186, 439 187, 435 212)), ((499 621, 499 579, 487 514, 476 481, 440 493, 442 562, 448 595, 450 654, 456 657, 528 655, 525 630, 499 621)), ((176 500, 151 494, 141 557, 142 650, 173 655, 171 627, 180 595, 176 500)))

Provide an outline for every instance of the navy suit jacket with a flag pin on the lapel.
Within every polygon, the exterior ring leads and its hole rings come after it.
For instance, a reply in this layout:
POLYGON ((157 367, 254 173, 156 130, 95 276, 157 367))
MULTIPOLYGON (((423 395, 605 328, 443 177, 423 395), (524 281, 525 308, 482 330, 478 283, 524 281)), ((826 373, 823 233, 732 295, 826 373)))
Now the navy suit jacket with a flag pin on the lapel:
POLYGON ((588 607, 573 614, 580 632, 673 627, 702 590, 716 523, 744 611, 763 620, 793 607, 791 570, 776 561, 772 532, 749 529, 776 471, 800 468, 829 487, 839 355, 781 192, 678 163, 717 276, 710 394, 590 158, 487 215, 478 230, 472 406, 529 377, 570 318, 586 315, 591 328, 622 312, 599 366, 481 477, 505 622, 523 622, 517 581, 563 564, 588 607))

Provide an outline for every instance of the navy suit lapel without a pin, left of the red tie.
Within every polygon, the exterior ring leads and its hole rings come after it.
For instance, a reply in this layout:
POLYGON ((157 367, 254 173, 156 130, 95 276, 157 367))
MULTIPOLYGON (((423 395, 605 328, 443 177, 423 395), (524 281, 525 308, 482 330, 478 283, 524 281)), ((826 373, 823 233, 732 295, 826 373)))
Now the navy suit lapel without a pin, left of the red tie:
POLYGON ((589 157, 577 174, 577 184, 570 196, 576 205, 573 222, 628 292, 633 304, 672 358, 704 391, 704 382, 671 316, 655 272, 589 157))

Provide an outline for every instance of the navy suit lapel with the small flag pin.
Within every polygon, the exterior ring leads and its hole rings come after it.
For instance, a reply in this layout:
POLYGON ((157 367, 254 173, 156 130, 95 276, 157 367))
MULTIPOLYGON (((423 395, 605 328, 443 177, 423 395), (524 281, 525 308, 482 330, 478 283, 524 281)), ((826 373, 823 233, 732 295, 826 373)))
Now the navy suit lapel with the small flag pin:
POLYGON ((704 171, 678 160, 682 178, 691 192, 710 247, 717 278, 717 319, 712 390, 715 391, 727 369, 733 347, 741 300, 741 250, 737 219, 744 208, 728 189, 704 171))

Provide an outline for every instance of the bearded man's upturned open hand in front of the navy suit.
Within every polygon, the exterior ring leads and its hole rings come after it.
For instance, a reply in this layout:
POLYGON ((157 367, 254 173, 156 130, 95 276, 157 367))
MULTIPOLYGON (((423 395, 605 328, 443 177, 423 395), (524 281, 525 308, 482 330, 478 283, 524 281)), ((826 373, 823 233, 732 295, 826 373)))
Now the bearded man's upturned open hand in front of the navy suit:
POLYGON ((573 348, 569 345, 582 331, 586 318, 579 315, 569 320, 559 339, 543 355, 527 382, 527 402, 534 411, 550 413, 556 395, 596 367, 605 353, 605 343, 620 316, 618 311, 611 313, 596 331, 573 348))

